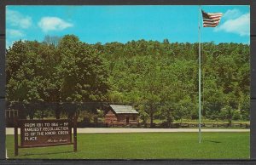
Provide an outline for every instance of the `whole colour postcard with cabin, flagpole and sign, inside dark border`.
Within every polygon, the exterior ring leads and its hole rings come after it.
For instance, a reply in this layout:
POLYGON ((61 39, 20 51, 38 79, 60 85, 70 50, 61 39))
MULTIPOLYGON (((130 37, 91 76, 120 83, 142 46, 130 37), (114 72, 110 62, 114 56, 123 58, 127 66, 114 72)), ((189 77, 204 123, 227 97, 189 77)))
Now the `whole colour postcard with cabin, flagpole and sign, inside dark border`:
POLYGON ((248 159, 249 5, 8 5, 10 159, 248 159))

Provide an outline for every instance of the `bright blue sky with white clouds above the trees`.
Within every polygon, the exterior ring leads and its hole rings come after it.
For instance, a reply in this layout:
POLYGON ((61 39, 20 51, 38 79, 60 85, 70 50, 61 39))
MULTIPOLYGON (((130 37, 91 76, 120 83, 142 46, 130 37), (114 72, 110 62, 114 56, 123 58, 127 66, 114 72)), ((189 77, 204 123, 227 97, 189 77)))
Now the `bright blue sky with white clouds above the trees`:
MULTIPOLYGON (((249 6, 201 6, 224 14, 216 28, 201 28, 201 41, 249 43, 249 6)), ((7 6, 7 47, 17 40, 74 34, 84 43, 131 40, 198 42, 198 6, 7 6)), ((200 23, 201 22, 200 15, 200 23)))

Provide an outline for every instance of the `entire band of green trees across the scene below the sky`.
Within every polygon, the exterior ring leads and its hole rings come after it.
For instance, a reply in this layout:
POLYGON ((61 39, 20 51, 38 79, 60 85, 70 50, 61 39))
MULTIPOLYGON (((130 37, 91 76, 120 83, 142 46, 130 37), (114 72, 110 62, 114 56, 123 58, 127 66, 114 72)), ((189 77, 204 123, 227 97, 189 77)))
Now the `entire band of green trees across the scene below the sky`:
MULTIPOLYGON (((87 44, 67 35, 16 42, 6 57, 10 103, 110 102, 133 105, 143 122, 198 118, 198 43, 87 44)), ((249 45, 202 43, 201 68, 203 117, 248 120, 249 45)))

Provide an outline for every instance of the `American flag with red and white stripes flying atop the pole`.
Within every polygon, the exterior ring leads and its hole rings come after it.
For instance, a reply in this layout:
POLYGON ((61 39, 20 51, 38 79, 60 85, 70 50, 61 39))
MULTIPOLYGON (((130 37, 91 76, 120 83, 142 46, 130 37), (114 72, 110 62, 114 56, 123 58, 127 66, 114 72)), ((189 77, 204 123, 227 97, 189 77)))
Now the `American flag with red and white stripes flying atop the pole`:
POLYGON ((206 13, 201 10, 204 27, 216 27, 222 17, 222 13, 206 13))

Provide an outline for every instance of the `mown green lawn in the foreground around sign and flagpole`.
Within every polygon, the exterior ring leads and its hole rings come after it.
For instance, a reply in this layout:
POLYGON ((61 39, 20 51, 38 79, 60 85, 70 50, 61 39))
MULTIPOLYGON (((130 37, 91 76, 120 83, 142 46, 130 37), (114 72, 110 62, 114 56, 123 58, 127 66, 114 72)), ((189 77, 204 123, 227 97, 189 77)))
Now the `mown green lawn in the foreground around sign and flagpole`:
POLYGON ((78 134, 73 145, 26 148, 14 156, 14 136, 6 136, 9 158, 166 159, 249 158, 249 133, 122 133, 78 134))

